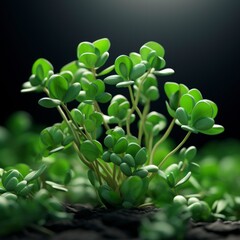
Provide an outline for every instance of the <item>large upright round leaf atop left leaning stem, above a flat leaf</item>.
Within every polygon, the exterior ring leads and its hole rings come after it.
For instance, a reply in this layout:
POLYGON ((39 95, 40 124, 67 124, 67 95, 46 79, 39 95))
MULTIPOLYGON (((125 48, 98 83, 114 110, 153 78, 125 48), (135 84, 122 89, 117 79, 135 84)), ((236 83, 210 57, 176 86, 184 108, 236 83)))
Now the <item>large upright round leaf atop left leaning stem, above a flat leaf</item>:
POLYGON ((61 75, 52 75, 48 81, 50 97, 63 101, 68 90, 68 81, 61 75))

